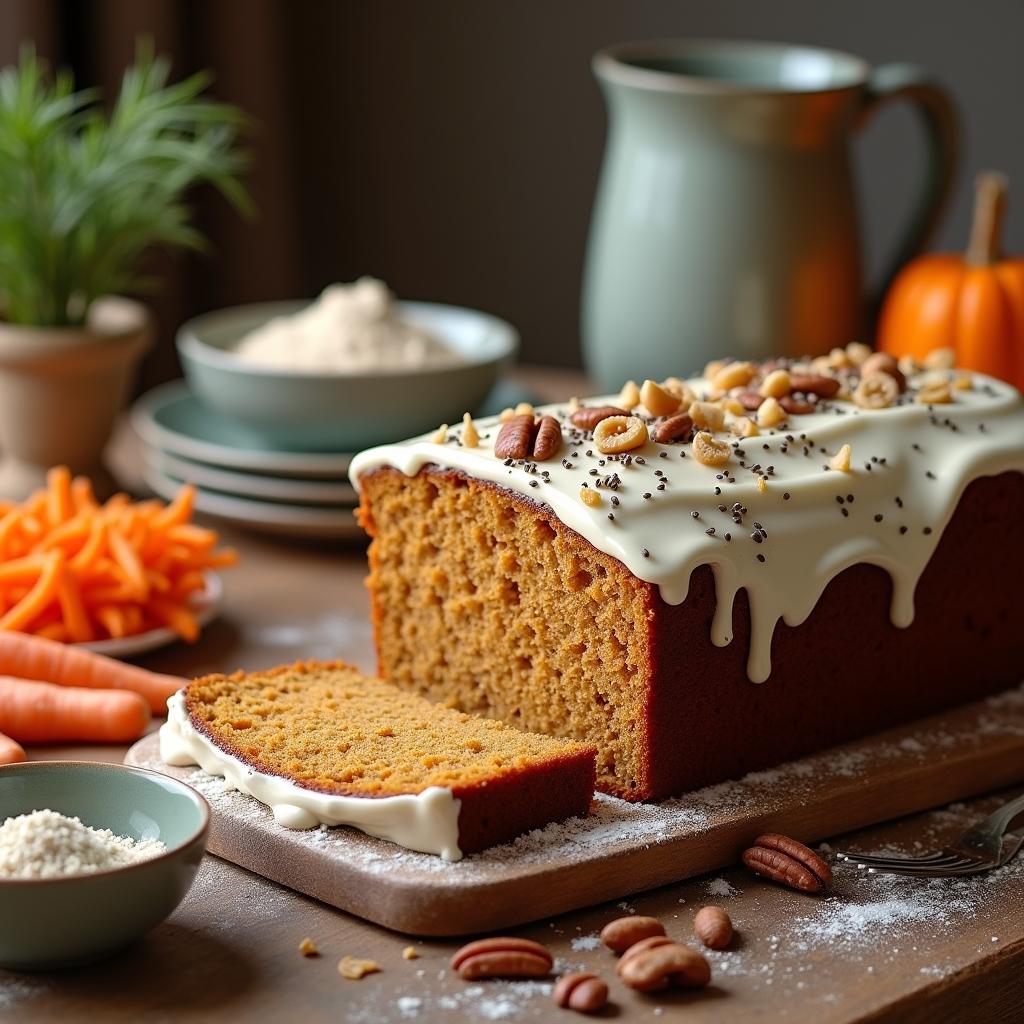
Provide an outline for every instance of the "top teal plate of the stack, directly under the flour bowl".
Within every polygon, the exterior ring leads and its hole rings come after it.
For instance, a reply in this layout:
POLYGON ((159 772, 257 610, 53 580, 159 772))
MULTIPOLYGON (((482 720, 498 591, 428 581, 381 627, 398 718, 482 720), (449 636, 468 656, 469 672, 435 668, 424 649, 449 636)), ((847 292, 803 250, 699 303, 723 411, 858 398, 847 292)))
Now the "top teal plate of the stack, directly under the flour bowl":
POLYGON ((271 451, 226 417, 207 409, 184 381, 162 384, 132 407, 131 425, 151 447, 213 466, 273 476, 346 479, 350 453, 271 451))

